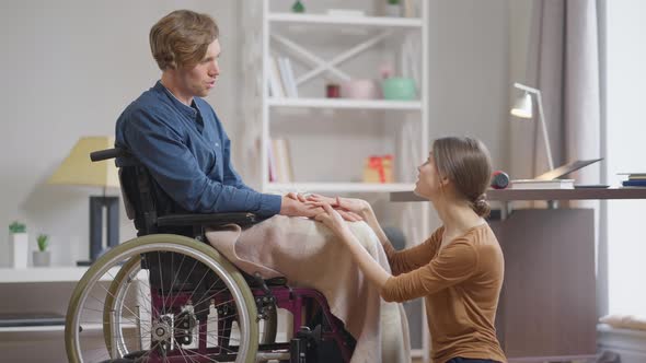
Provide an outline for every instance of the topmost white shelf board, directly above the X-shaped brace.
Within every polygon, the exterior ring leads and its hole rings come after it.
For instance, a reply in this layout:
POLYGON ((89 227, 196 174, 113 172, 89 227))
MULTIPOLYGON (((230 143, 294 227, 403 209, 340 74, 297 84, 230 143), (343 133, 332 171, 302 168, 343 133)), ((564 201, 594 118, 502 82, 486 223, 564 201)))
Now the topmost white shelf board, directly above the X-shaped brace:
POLYGON ((332 16, 326 14, 269 13, 269 22, 290 24, 338 24, 378 27, 422 27, 419 17, 332 16))

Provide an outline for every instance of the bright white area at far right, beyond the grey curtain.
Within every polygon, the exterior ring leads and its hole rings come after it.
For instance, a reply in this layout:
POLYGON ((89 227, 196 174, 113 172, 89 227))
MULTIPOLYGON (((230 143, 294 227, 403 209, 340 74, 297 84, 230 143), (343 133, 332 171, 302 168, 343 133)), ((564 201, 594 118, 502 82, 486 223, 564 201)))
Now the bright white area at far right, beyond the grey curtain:
MULTIPOLYGON (((643 85, 646 84, 646 2, 605 2, 605 129, 607 179, 620 185, 616 173, 646 173, 643 152, 643 85)), ((646 314, 644 256, 646 244, 638 226, 644 223, 641 200, 608 202, 609 313, 646 314)))

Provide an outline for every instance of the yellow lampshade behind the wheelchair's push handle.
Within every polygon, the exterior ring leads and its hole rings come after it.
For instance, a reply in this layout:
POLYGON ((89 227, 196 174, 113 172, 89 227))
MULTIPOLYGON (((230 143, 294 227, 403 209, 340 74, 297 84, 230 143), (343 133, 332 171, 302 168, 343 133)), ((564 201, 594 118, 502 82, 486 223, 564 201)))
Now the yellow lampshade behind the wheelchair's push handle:
POLYGON ((114 148, 114 138, 85 137, 79 139, 70 154, 62 161, 47 184, 119 187, 114 160, 93 163, 90 153, 114 148))

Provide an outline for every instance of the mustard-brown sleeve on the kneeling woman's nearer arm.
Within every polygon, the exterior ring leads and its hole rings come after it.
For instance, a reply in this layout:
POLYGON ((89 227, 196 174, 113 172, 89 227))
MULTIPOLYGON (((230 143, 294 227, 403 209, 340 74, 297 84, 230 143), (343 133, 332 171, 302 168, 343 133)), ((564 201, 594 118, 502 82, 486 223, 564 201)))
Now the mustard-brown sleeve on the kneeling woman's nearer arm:
POLYGON ((466 280, 477 268, 478 257, 468 241, 455 239, 429 264, 411 272, 391 277, 381 289, 388 302, 404 302, 431 295, 466 280))

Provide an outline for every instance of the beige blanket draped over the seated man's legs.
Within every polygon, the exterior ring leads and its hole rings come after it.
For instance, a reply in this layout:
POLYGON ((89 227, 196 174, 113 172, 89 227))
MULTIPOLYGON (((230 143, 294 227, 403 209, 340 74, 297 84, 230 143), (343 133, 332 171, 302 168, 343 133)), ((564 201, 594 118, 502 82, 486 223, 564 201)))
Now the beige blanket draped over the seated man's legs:
MULTIPOLYGON (((349 223, 370 255, 390 271, 377 235, 364 222, 349 223)), ((275 215, 241 231, 231 225, 207 233, 209 243, 238 268, 263 278, 286 277, 291 286, 320 291, 332 314, 357 340, 351 362, 411 361, 408 326, 401 304, 381 300, 347 248, 322 223, 275 215)))

